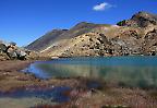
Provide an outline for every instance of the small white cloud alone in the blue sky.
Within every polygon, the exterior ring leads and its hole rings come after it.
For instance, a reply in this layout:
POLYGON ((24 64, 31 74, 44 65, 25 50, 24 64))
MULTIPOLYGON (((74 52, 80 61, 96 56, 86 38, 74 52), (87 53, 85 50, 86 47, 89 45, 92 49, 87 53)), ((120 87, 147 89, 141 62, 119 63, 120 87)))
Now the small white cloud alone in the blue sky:
POLYGON ((94 11, 104 11, 106 9, 109 9, 109 8, 112 8, 113 5, 112 4, 109 4, 107 2, 102 2, 100 4, 97 4, 93 8, 94 11))

